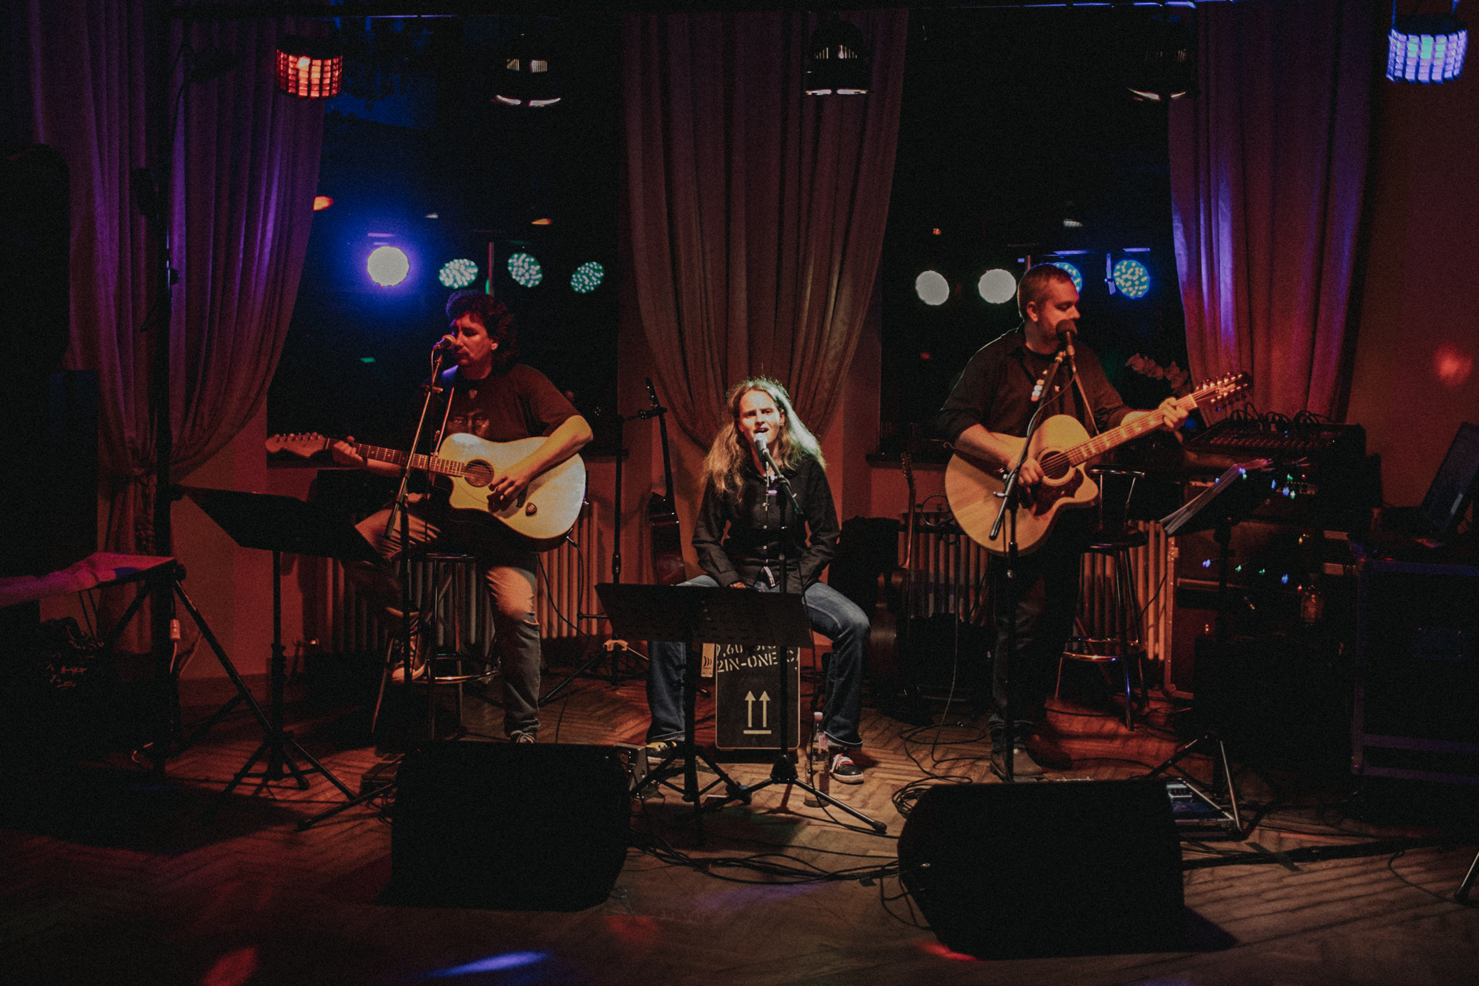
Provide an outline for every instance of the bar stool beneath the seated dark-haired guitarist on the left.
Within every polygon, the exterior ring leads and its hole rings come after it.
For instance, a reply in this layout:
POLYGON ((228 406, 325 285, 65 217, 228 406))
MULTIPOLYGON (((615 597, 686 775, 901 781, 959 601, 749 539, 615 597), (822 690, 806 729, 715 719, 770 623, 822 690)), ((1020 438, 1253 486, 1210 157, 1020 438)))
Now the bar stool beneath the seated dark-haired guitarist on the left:
MULTIPOLYGON (((435 739, 436 686, 456 686, 457 729, 461 730, 463 686, 469 681, 488 681, 498 673, 498 670, 493 661, 463 652, 463 612, 458 582, 464 581, 469 566, 472 566, 472 571, 476 572, 478 557, 454 551, 427 551, 422 554, 422 560, 430 568, 427 574, 430 606, 422 609, 422 615, 427 616, 426 619, 413 615, 416 622, 413 624, 411 633, 413 647, 416 650, 422 650, 423 647, 429 649, 429 653, 427 659, 420 667, 416 667, 416 659, 413 658, 411 684, 426 686, 429 689, 426 696, 426 735, 435 739), (444 611, 442 603, 447 600, 448 594, 451 602, 444 611), (448 636, 448 624, 451 624, 451 643, 450 646, 441 646, 438 643, 438 637, 448 636)), ((374 714, 370 717, 371 732, 380 717, 380 704, 385 701, 385 684, 398 668, 404 667, 402 661, 395 653, 398 642, 399 636, 393 636, 386 647, 385 670, 380 673, 380 696, 376 699, 374 714)))

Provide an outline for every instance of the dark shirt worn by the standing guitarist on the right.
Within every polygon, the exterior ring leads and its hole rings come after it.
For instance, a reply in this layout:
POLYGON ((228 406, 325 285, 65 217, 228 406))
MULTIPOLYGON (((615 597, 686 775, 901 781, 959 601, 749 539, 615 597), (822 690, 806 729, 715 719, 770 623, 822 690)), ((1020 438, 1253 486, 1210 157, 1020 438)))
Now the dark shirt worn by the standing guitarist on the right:
MULTIPOLYGON (((1105 377, 1099 358, 1083 341, 1074 344, 1078 380, 1089 395, 1089 408, 1083 407, 1078 389, 1065 364, 1053 377, 1053 386, 1043 395, 1052 401, 1044 414, 1068 414, 1084 424, 1090 435, 1111 429, 1130 414, 1130 408, 1105 377), (1090 411, 1093 427, 1090 427, 1090 411)), ((947 441, 954 442, 972 424, 984 424, 986 430, 1000 435, 1022 436, 1037 405, 1032 404, 1032 387, 1038 377, 1053 362, 1026 347, 1022 328, 994 339, 970 358, 960 374, 955 389, 945 407, 935 415, 935 429, 947 441)))

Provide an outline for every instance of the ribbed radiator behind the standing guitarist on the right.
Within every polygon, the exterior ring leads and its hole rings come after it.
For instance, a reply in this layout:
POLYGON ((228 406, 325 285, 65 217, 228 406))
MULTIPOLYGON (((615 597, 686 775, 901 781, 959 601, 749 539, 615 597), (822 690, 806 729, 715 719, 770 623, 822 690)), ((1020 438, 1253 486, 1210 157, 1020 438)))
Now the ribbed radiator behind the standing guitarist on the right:
MULTIPOLYGON (((933 519, 933 517, 930 517, 933 519)), ((921 525, 914 556, 914 600, 910 606, 914 616, 955 613, 960 618, 985 625, 991 622, 991 591, 986 582, 988 553, 975 541, 960 534, 935 534, 921 525)), ((941 525, 948 526, 948 525, 941 525)), ((1170 538, 1160 523, 1134 522, 1145 531, 1145 545, 1130 551, 1134 568, 1134 596, 1145 613, 1140 621, 1145 655, 1149 661, 1164 662, 1171 646, 1171 556, 1170 538)), ((899 557, 905 557, 907 545, 899 535, 899 557)), ((1114 600, 1114 571, 1108 557, 1086 553, 1078 585, 1080 616, 1106 625, 1111 619, 1114 600)), ((1109 622, 1112 625, 1112 622, 1109 622)), ((1161 665, 1164 667, 1164 664, 1161 665)), ((1146 670, 1149 676, 1152 668, 1146 670)), ((1157 673, 1157 677, 1160 673, 1157 673)))

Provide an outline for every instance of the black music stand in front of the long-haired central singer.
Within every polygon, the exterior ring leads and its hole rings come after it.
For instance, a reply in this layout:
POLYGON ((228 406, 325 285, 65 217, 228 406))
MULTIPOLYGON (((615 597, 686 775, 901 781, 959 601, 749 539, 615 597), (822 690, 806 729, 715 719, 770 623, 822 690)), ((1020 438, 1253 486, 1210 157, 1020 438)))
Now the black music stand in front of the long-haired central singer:
MULTIPOLYGON (((611 619, 612 633, 629 640, 682 640, 688 647, 683 665, 683 742, 679 744, 655 770, 633 789, 639 792, 648 783, 661 783, 669 767, 677 757, 683 761, 683 800, 694 804, 694 820, 703 834, 703 813, 716 810, 729 801, 750 804, 754 791, 772 783, 796 785, 825 804, 842 809, 874 831, 886 831, 881 822, 850 809, 828 794, 824 794, 796 776, 796 766, 785 755, 788 729, 781 729, 781 747, 776 766, 771 776, 759 783, 735 783, 694 741, 695 704, 698 695, 698 661, 694 659, 694 645, 720 643, 741 647, 775 646, 806 647, 812 643, 810 618, 799 593, 735 591, 734 588, 710 588, 705 585, 618 585, 602 582, 596 585, 600 605, 611 619), (713 783, 698 786, 698 760, 703 760, 717 778, 713 783), (788 769, 788 770, 787 770, 788 769), (704 807, 704 794, 725 785, 725 797, 714 806, 704 807)), ((782 650, 784 652, 784 650, 782 650)), ((785 661, 776 661, 784 676, 785 661)))

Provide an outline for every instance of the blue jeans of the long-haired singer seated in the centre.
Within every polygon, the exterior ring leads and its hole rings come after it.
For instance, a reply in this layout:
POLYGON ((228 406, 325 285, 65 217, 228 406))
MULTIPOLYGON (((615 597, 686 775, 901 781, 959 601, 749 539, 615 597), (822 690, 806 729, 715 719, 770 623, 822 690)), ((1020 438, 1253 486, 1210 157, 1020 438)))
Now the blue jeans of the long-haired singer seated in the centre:
MULTIPOLYGON (((692 578, 683 585, 719 585, 708 575, 692 578)), ((760 591, 775 591, 756 585, 760 591)), ((858 720, 862 717, 862 649, 868 640, 868 616, 846 596, 825 582, 813 582, 802 597, 812 618, 812 630, 833 642, 833 656, 827 667, 827 707, 822 710, 822 732, 833 747, 861 747, 858 720)), ((686 647, 673 640, 649 645, 652 662, 648 665, 648 708, 652 724, 648 741, 683 736, 683 668, 686 647)))

